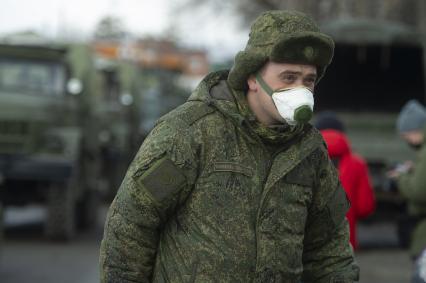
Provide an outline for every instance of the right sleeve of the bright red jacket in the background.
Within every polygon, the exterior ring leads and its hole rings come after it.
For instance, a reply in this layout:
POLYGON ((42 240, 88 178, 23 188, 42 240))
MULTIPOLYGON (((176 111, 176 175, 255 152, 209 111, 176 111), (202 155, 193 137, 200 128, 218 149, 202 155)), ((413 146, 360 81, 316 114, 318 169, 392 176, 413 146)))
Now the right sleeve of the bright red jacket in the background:
POLYGON ((356 201, 352 205, 356 206, 355 211, 357 217, 364 218, 369 216, 376 208, 376 198, 374 190, 371 186, 370 175, 367 164, 360 158, 358 161, 358 183, 356 186, 356 201))

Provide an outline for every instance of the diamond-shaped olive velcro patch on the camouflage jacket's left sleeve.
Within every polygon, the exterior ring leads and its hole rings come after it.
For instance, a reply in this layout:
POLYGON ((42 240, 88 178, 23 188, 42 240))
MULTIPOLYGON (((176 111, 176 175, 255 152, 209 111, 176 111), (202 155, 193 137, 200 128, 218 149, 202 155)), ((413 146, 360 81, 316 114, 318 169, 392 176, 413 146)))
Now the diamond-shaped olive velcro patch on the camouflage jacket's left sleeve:
POLYGON ((182 170, 167 158, 156 161, 145 173, 134 178, 158 202, 171 196, 186 183, 182 170))

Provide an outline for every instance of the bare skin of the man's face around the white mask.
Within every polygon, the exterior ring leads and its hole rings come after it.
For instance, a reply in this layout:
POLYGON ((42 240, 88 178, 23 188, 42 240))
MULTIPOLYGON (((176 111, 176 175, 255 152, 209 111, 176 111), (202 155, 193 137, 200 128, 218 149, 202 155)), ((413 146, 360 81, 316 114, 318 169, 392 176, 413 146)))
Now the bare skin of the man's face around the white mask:
MULTIPOLYGON (((275 63, 270 61, 260 70, 260 75, 274 91, 303 86, 313 92, 317 79, 317 70, 312 65, 275 63)), ((249 105, 258 118, 260 118, 259 120, 267 125, 284 122, 284 119, 275 107, 272 97, 256 81, 255 75, 251 75, 247 83, 249 86, 247 93, 249 105)))

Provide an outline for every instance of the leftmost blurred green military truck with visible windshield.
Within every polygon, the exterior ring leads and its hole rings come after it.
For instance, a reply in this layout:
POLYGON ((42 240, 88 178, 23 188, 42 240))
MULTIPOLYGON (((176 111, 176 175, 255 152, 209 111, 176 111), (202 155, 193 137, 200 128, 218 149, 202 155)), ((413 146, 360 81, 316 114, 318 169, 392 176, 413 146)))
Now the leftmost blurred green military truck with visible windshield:
POLYGON ((85 44, 0 43, 1 204, 45 205, 45 233, 71 239, 96 218, 100 78, 85 44))

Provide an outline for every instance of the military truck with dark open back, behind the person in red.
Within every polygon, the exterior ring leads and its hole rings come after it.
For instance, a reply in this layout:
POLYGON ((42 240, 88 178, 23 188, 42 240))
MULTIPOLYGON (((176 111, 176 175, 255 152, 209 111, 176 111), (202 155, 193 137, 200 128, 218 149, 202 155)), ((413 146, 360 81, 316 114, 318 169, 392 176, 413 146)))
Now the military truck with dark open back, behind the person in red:
POLYGON ((354 151, 369 164, 378 207, 371 220, 395 220, 405 202, 386 171, 413 159, 395 122, 409 99, 425 102, 422 36, 402 24, 340 19, 323 25, 335 42, 327 75, 316 89, 316 112, 332 110, 346 124, 354 151))

